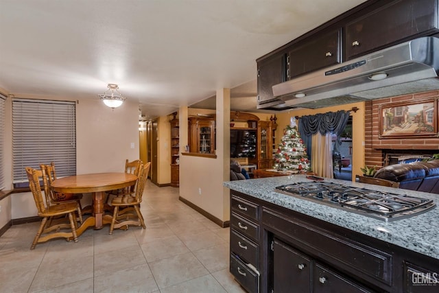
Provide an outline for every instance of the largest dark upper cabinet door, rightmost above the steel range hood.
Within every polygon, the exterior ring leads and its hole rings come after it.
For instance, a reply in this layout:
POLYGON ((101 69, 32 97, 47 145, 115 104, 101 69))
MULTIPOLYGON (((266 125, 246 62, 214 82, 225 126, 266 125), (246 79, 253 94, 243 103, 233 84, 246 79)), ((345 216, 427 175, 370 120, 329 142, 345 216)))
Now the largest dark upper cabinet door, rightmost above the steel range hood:
POLYGON ((438 32, 437 0, 384 2, 387 4, 346 23, 346 60, 438 32))

